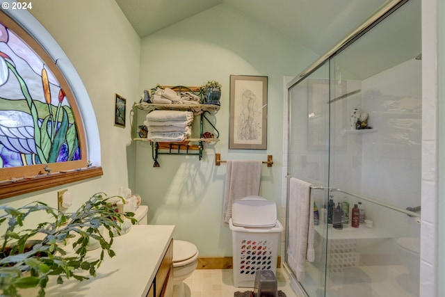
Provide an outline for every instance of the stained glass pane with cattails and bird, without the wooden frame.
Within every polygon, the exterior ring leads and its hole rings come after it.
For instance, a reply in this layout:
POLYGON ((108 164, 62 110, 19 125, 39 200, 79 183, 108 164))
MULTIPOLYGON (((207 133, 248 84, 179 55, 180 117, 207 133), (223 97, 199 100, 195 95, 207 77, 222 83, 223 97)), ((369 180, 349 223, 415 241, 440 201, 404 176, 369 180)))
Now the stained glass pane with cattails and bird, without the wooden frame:
POLYGON ((0 168, 81 159, 65 90, 29 45, 0 32, 0 168))

